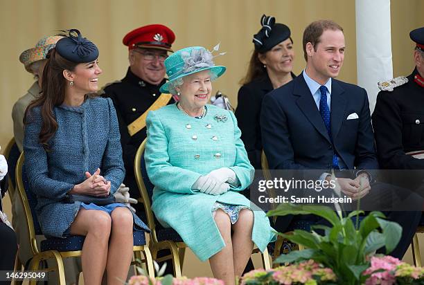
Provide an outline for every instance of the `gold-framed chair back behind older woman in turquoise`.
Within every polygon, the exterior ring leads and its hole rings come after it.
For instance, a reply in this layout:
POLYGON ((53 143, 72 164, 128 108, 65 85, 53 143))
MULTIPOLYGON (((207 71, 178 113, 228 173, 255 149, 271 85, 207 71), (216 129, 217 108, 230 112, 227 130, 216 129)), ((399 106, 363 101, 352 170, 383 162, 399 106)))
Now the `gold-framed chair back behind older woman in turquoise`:
POLYGON ((147 169, 145 168, 144 150, 147 139, 143 140, 139 149, 137 149, 136 156, 134 158, 134 174, 136 178, 137 186, 141 195, 141 203, 143 203, 145 217, 147 219, 148 227, 151 230, 152 239, 157 242, 156 228, 161 228, 160 223, 156 223, 156 218, 152 212, 152 195, 154 185, 149 179, 147 169))

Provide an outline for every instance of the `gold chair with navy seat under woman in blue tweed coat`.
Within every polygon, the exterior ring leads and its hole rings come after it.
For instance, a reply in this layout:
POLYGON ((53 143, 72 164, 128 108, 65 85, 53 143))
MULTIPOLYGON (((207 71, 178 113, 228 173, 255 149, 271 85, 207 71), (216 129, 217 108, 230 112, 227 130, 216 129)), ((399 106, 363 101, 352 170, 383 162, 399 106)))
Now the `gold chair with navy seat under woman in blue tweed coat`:
MULTIPOLYGON (((40 270, 39 263, 44 260, 53 259, 54 266, 42 269, 46 273, 55 271, 58 275, 57 284, 66 285, 63 259, 69 257, 80 257, 82 253, 82 244, 85 237, 73 235, 67 238, 48 237, 41 242, 40 248, 37 246, 35 235, 42 235, 41 228, 35 214, 35 205, 37 197, 29 190, 28 177, 24 165, 24 153, 19 156, 16 167, 16 180, 22 205, 26 216, 26 226, 28 227, 30 248, 33 252, 33 259, 30 261, 29 270, 40 270)), ((136 261, 132 264, 144 263, 150 277, 154 277, 153 259, 150 250, 145 246, 144 232, 134 231, 134 257, 136 261), (142 259, 141 255, 144 258, 142 259)), ((30 284, 36 284, 31 281, 30 284)))

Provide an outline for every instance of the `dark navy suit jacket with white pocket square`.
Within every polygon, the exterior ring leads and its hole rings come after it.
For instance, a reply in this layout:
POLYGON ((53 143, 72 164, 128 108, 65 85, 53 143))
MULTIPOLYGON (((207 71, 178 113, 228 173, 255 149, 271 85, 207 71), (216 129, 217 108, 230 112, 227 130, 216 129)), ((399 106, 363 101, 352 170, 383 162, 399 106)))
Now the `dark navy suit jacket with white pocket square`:
POLYGON ((366 91, 333 79, 330 120, 333 142, 303 75, 265 95, 260 125, 270 169, 330 169, 333 151, 348 169, 377 169, 366 91), (359 118, 346 120, 352 113, 359 118))

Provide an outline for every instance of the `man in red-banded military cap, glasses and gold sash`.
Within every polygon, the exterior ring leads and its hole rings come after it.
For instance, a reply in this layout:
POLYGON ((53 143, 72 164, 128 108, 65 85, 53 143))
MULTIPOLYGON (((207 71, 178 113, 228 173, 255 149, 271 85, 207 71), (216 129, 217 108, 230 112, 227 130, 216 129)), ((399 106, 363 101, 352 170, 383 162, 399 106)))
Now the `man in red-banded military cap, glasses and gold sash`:
POLYGON ((118 115, 126 171, 124 183, 130 187, 133 197, 140 196, 133 165, 136 151, 146 137, 147 113, 175 102, 172 95, 159 92, 159 87, 166 82, 164 61, 168 52, 173 51, 174 40, 173 31, 159 24, 127 33, 123 38, 129 50, 127 74, 122 80, 107 84, 103 90, 104 96, 112 98, 118 115))

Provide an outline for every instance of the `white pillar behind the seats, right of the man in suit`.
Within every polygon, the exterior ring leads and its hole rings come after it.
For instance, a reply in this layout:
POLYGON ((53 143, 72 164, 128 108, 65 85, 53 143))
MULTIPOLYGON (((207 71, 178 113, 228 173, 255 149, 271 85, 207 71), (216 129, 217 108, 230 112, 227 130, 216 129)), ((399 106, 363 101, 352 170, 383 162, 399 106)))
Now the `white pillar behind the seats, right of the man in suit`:
POLYGON ((393 78, 390 0, 355 0, 357 84, 368 93, 371 113, 377 82, 393 78))

